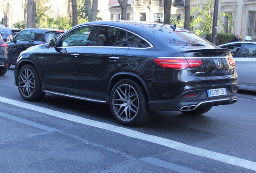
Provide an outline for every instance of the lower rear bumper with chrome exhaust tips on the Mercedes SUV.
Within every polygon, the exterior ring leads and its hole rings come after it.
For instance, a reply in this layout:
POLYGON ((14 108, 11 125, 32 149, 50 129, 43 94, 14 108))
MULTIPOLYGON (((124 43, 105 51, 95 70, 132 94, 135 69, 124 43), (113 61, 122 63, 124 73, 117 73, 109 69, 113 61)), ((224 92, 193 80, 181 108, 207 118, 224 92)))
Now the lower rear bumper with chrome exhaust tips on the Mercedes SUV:
POLYGON ((175 99, 149 101, 151 111, 191 111, 196 108, 218 106, 218 105, 231 105, 237 102, 236 92, 238 86, 226 87, 227 95, 208 97, 207 89, 189 90, 181 93, 175 99), (190 93, 197 93, 193 97, 184 97, 190 93))

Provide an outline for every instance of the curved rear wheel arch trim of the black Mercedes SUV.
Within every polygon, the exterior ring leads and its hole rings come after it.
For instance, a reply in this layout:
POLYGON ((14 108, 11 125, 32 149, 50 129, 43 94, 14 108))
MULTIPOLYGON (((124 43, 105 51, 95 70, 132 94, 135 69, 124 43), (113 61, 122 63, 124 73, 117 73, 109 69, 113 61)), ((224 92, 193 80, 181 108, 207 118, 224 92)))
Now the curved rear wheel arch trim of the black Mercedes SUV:
POLYGON ((109 80, 109 83, 107 86, 107 95, 110 96, 111 90, 114 87, 114 85, 116 84, 116 82, 118 82, 119 80, 124 79, 124 78, 132 79, 132 80, 135 80, 136 82, 140 83, 142 85, 142 87, 144 88, 148 99, 151 100, 151 96, 149 94, 149 89, 148 89, 146 82, 138 74, 135 74, 132 72, 118 72, 118 73, 114 74, 109 80))

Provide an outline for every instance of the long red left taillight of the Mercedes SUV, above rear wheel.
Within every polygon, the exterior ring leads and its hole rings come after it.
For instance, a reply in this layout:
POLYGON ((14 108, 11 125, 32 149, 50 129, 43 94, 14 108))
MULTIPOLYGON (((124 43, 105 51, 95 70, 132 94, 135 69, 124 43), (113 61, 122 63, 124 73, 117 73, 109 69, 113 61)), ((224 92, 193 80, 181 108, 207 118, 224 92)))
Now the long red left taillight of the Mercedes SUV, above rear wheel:
POLYGON ((172 58, 156 58, 155 63, 161 67, 173 69, 186 69, 189 67, 199 67, 202 64, 201 60, 196 59, 172 59, 172 58))

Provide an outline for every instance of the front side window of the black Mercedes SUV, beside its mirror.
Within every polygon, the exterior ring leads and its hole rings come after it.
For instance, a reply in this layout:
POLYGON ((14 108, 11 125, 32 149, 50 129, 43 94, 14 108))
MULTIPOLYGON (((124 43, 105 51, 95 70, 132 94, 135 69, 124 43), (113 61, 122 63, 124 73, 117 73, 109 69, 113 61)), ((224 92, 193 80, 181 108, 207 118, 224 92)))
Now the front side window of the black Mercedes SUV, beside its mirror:
POLYGON ((81 26, 62 36, 60 46, 85 46, 93 26, 81 26))

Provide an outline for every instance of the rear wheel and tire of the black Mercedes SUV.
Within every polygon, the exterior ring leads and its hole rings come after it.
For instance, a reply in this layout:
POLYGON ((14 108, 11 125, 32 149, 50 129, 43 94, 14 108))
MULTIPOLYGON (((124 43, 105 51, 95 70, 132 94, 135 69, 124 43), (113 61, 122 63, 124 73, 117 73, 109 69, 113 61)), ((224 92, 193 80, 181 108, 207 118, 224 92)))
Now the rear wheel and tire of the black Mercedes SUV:
POLYGON ((110 109, 122 125, 135 126, 149 122, 152 111, 143 87, 130 79, 118 81, 110 94, 110 109))

